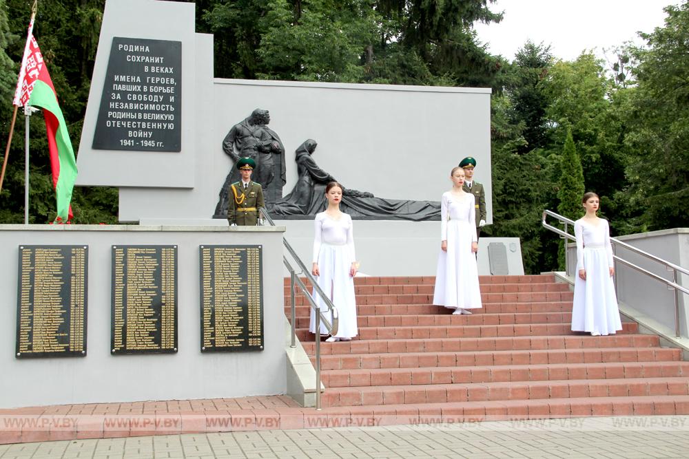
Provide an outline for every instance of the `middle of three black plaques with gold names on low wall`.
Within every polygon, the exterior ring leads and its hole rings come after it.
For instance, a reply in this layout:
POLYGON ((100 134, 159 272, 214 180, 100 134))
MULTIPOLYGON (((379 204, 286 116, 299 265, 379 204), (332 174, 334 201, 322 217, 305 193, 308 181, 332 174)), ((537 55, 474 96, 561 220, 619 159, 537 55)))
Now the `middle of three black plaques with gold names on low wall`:
POLYGON ((177 246, 112 246, 112 354, 177 352, 177 246))

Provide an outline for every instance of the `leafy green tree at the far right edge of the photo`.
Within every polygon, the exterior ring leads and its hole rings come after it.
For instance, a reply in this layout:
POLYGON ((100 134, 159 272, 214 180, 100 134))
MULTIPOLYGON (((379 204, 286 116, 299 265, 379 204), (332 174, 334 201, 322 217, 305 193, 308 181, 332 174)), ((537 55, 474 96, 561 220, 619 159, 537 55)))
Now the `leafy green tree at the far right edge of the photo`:
POLYGON ((641 34, 631 96, 630 205, 650 230, 689 226, 689 2, 668 6, 662 28, 641 34))

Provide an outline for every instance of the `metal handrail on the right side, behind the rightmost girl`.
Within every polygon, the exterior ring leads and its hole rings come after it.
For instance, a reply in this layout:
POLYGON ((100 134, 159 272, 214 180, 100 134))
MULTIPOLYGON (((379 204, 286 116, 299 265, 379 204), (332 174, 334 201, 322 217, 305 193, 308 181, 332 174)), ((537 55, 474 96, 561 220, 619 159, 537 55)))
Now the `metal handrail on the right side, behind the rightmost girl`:
MULTIPOLYGON (((573 235, 570 235, 568 233, 568 227, 570 225, 574 226, 574 221, 568 219, 567 217, 563 217, 562 215, 559 215, 553 211, 548 211, 547 209, 543 211, 542 219, 541 219, 541 224, 543 225, 544 228, 553 231, 553 233, 556 233, 563 239, 570 239, 576 242, 577 238, 573 235), (548 224, 546 222, 546 219, 548 217, 553 217, 562 224, 564 224, 564 231, 562 231, 559 228, 556 228, 555 226, 552 226, 551 224, 548 224)), ((666 284, 668 286, 668 289, 675 290, 675 336, 677 338, 680 337, 680 332, 679 332, 679 292, 683 292, 686 295, 689 295, 689 289, 684 288, 683 286, 677 284, 677 272, 679 271, 680 273, 689 275, 689 270, 686 268, 682 268, 681 266, 678 266, 670 261, 664 260, 660 257, 656 257, 655 255, 652 255, 648 252, 645 252, 644 250, 641 250, 640 248, 636 248, 634 246, 630 246, 629 244, 626 244, 626 242, 619 241, 618 239, 615 239, 615 237, 610 237, 610 242, 613 244, 613 260, 619 261, 621 264, 624 264, 625 266, 629 266, 630 268, 633 268, 639 273, 642 273, 648 277, 651 277, 652 279, 656 279, 657 281, 661 281, 662 283, 666 284), (655 261, 659 264, 662 264, 665 266, 666 270, 672 271, 672 281, 665 279, 664 277, 661 277, 655 273, 651 273, 649 270, 646 270, 644 268, 641 268, 641 266, 638 266, 636 264, 633 264, 631 261, 627 261, 624 258, 618 257, 617 254, 615 254, 615 248, 623 247, 626 248, 627 250, 630 250, 633 253, 636 253, 638 255, 642 255, 652 261, 655 261)), ((565 250, 564 250, 564 255, 565 255, 565 273, 569 277, 569 263, 568 263, 568 250, 567 246, 565 244, 565 250)), ((575 275, 576 273, 573 273, 575 275)), ((568 279, 570 284, 573 284, 573 281, 570 281, 568 279)), ((615 288, 617 288, 617 283, 615 283, 615 288)))

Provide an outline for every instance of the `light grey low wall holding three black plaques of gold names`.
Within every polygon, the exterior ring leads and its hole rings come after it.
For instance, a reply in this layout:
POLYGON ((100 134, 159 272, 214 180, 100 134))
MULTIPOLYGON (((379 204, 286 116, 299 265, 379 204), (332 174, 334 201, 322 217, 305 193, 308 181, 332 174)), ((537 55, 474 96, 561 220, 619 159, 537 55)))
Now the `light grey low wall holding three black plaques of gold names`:
POLYGON ((284 228, 0 225, 0 407, 285 394, 284 228), (20 244, 89 246, 88 354, 14 358, 20 244), (111 246, 178 245, 178 352, 110 354, 111 246), (263 245, 265 350, 201 354, 200 244, 263 245))

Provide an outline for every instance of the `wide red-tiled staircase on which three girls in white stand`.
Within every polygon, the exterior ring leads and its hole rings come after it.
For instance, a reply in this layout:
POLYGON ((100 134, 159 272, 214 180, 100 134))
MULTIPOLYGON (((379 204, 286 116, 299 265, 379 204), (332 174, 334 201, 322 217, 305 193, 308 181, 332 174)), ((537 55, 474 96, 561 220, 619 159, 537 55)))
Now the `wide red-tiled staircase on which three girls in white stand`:
MULTIPOLYGON (((471 315, 433 306, 433 282, 355 279, 359 336, 321 343, 325 412, 390 423, 689 414, 681 351, 636 323, 571 332, 573 294, 553 275, 481 277, 484 307, 471 315)), ((287 317, 289 301, 286 287, 287 317)), ((307 304, 296 297, 296 329, 313 361, 307 304)))

